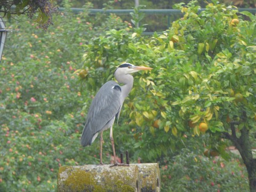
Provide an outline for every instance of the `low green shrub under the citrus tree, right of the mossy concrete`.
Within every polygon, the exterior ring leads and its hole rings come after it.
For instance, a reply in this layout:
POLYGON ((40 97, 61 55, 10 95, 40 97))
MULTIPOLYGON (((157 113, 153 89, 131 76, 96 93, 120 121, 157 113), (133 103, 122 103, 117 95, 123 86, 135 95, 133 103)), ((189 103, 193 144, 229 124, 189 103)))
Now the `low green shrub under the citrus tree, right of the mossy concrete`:
POLYGON ((162 166, 163 191, 249 191, 247 173, 241 159, 230 162, 210 159, 190 149, 165 159, 162 166))

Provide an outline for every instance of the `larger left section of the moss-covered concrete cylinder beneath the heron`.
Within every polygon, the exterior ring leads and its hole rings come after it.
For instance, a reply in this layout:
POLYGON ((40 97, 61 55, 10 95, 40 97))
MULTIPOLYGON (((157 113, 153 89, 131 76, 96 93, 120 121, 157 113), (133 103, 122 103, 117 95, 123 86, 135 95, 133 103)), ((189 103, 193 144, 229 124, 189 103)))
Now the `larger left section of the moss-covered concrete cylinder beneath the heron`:
POLYGON ((62 166, 58 174, 58 191, 140 192, 139 169, 136 164, 62 166))

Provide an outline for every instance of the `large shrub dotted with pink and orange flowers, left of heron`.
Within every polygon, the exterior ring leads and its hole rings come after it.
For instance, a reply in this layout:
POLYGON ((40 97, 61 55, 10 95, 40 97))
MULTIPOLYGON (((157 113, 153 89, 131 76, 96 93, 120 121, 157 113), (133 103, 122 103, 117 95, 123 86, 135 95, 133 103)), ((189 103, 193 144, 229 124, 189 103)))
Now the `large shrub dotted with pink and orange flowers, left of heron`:
POLYGON ((47 33, 30 22, 10 26, 0 71, 0 191, 55 191, 59 166, 97 163, 98 148, 79 142, 92 93, 76 69, 84 44, 121 21, 109 15, 94 25, 86 9, 54 21, 47 33))

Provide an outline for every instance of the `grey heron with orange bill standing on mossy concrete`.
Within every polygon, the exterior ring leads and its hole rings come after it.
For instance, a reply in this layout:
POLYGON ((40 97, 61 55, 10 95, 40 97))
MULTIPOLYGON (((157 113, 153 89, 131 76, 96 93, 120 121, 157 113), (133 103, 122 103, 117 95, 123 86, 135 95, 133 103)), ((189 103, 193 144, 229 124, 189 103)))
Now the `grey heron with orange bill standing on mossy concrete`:
POLYGON ((92 100, 87 119, 84 125, 81 145, 91 145, 100 133, 100 164, 102 163, 102 143, 103 131, 110 128, 110 141, 114 154, 114 165, 119 165, 116 161, 116 152, 113 139, 113 124, 119 118, 120 111, 125 98, 129 95, 133 86, 133 76, 130 75, 140 70, 151 70, 150 67, 134 66, 131 63, 123 63, 114 73, 118 83, 108 81, 101 86, 98 93, 92 100))

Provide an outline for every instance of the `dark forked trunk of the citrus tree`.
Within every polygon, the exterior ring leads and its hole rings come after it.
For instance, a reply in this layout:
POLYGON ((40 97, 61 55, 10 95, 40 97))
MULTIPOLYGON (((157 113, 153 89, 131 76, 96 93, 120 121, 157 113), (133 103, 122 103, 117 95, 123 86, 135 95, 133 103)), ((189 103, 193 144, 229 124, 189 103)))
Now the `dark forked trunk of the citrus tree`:
POLYGON ((256 191, 256 159, 253 158, 252 155, 252 146, 250 143, 249 138, 249 129, 247 129, 245 126, 243 127, 241 131, 241 136, 237 138, 236 131, 235 131, 235 122, 231 122, 230 128, 231 128, 231 134, 224 133, 226 138, 231 140, 234 144, 234 146, 239 151, 243 162, 246 166, 247 173, 248 173, 248 179, 249 179, 249 185, 250 185, 250 191, 256 191))

